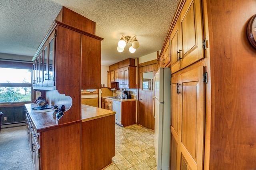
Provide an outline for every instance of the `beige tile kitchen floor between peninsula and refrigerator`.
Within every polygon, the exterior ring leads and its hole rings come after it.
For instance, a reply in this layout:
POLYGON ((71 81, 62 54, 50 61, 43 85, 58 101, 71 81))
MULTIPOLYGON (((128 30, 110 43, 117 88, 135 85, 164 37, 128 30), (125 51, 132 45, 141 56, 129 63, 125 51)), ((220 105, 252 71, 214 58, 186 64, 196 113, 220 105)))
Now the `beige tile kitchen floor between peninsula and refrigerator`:
POLYGON ((139 125, 116 125, 116 156, 105 170, 156 170, 154 132, 139 125))

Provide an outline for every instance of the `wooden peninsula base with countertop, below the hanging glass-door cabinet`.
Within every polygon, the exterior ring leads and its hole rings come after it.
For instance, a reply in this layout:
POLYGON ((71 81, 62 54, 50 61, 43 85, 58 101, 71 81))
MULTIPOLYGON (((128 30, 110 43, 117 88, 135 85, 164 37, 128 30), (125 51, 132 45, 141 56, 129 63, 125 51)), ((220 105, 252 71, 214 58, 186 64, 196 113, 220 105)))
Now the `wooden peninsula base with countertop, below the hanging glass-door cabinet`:
POLYGON ((58 125, 50 109, 35 111, 32 107, 36 104, 25 106, 32 155, 34 143, 38 146, 38 155, 32 156, 32 160, 39 162, 40 169, 100 170, 112 164, 115 111, 82 105, 82 119, 58 125))

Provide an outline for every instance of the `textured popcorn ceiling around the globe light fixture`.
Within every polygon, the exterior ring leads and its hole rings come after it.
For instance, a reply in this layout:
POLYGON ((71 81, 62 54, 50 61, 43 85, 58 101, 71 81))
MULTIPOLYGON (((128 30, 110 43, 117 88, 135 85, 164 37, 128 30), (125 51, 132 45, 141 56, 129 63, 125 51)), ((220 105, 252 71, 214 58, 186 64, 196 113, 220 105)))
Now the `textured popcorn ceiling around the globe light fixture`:
POLYGON ((34 56, 62 6, 96 22, 102 65, 161 49, 179 0, 0 0, 0 53, 34 56), (121 36, 136 36, 140 47, 116 50, 121 36))

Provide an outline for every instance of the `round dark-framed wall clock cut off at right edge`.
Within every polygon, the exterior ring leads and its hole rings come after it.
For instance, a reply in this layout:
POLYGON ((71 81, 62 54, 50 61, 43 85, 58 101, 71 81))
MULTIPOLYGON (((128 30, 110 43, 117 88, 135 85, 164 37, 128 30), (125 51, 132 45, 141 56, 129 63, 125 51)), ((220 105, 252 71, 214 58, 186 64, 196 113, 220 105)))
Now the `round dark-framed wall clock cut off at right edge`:
POLYGON ((249 42, 256 49, 256 14, 252 16, 247 25, 247 37, 249 42))

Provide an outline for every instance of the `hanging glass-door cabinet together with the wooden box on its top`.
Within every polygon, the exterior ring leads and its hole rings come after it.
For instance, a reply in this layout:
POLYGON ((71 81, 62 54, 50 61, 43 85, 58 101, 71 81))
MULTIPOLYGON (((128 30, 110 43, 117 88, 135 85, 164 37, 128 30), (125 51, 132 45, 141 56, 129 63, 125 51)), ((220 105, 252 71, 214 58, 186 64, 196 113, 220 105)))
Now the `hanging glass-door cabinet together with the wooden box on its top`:
POLYGON ((87 18, 80 20, 79 17, 82 16, 75 14, 63 7, 39 46, 33 58, 34 89, 58 90, 62 94, 68 90, 65 88, 100 89, 98 75, 100 75, 100 49, 103 39, 85 32, 84 30, 91 28, 88 30, 94 33, 94 22, 87 18), (69 15, 73 17, 72 21, 69 15), (79 21, 87 22, 79 24, 79 21), (95 67, 99 69, 94 69, 95 67), (74 81, 77 82, 75 86, 71 83, 74 81))

